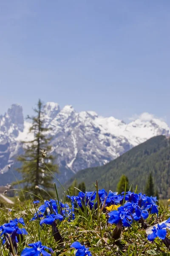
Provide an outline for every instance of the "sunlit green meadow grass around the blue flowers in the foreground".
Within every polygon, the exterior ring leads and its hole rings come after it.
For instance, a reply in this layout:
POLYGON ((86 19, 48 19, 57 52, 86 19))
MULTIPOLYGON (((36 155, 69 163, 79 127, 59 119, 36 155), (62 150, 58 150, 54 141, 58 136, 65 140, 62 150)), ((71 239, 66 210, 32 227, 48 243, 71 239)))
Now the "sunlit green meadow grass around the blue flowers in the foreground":
MULTIPOLYGON (((6 204, 3 201, 0 207, 0 225, 8 223, 14 218, 22 217, 28 235, 24 236, 23 241, 17 243, 17 254, 9 253, 6 249, 6 243, 3 244, 1 239, 0 255, 20 255, 22 250, 28 247, 28 244, 36 241, 41 241, 43 245, 51 247, 54 251, 52 255, 56 256, 74 255, 74 248, 70 248, 74 241, 79 241, 85 247, 89 247, 91 254, 94 256, 170 255, 170 251, 161 239, 156 238, 153 242, 148 241, 146 231, 141 224, 135 221, 130 227, 122 227, 121 236, 118 239, 113 239, 113 230, 116 225, 108 223, 108 212, 104 207, 99 207, 99 197, 96 197, 95 200, 94 202, 98 203, 97 208, 90 209, 88 205, 83 205, 84 208, 77 206, 74 220, 69 221, 68 217, 63 221, 57 220, 57 227, 63 238, 62 243, 55 241, 51 225, 40 226, 40 219, 30 221, 38 210, 38 206, 35 206, 31 199, 24 202, 16 199, 14 205, 6 204)), ((62 202, 64 201, 65 198, 62 202)), ((39 206, 41 204, 43 204, 43 201, 40 202, 39 206)), ((148 226, 152 226, 169 217, 169 208, 161 204, 159 206, 159 216, 150 214, 145 222, 148 226)), ((169 233, 167 233, 167 237, 169 237, 169 233)))

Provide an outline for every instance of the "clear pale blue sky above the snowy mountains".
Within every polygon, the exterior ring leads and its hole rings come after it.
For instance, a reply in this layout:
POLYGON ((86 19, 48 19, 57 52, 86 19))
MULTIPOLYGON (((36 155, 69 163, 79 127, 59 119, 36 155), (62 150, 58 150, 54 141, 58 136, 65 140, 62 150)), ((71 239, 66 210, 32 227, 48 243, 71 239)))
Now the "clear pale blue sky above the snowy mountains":
POLYGON ((38 98, 170 125, 170 0, 1 0, 0 113, 38 98))

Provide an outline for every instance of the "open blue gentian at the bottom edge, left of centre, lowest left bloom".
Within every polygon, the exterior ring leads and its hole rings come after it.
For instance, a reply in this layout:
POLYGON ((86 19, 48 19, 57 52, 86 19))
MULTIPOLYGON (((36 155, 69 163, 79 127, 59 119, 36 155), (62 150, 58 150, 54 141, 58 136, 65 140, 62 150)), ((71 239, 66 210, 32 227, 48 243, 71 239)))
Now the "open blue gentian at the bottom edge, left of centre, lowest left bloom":
POLYGON ((51 256, 51 253, 54 253, 53 250, 47 246, 43 246, 40 241, 34 244, 28 244, 32 248, 25 248, 21 256, 51 256), (50 250, 51 253, 48 253, 45 249, 50 250))

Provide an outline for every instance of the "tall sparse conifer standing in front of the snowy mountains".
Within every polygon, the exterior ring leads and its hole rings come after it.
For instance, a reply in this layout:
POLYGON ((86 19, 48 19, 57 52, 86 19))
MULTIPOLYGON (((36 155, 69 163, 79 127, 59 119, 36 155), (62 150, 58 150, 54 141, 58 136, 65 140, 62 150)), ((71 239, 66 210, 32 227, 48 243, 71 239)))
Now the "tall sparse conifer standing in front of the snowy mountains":
MULTIPOLYGON (((29 132, 34 134, 34 140, 23 142, 24 154, 17 158, 22 166, 17 170, 22 174, 23 179, 20 180, 20 183, 23 183, 24 190, 34 193, 34 195, 47 197, 46 192, 49 193, 54 188, 54 184, 53 175, 44 166, 44 162, 52 172, 58 172, 58 167, 54 164, 54 157, 49 154, 51 138, 45 134, 48 128, 44 127, 43 108, 39 99, 37 108, 34 108, 36 115, 27 117, 32 121, 29 132), (47 154, 45 154, 46 152, 47 154)), ((27 194, 28 196, 29 194, 27 194)))

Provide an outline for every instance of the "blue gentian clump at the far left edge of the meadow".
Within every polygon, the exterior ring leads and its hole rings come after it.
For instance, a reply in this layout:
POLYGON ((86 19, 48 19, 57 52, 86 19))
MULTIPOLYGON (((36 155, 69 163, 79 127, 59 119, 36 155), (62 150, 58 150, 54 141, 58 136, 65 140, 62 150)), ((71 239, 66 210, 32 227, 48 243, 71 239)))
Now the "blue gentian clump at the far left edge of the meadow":
POLYGON ((3 244, 6 243, 6 247, 12 252, 12 246, 17 252, 17 243, 20 241, 23 242, 23 235, 28 235, 25 228, 19 228, 18 224, 22 224, 25 226, 23 218, 15 218, 14 220, 9 221, 8 223, 3 224, 0 226, 1 231, 1 239, 3 244), (11 237, 12 244, 10 243, 9 236, 11 237))

